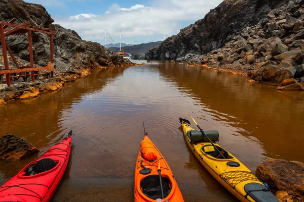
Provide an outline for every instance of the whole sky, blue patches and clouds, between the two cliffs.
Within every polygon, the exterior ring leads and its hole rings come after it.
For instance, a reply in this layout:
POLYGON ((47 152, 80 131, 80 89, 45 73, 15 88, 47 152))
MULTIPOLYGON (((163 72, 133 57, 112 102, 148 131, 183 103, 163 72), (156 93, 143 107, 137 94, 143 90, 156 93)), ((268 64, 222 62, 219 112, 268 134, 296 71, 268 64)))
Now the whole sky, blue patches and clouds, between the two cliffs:
POLYGON ((75 30, 84 40, 104 44, 164 40, 202 19, 222 0, 25 0, 43 5, 54 24, 75 30), (112 39, 111 39, 112 38, 112 39))

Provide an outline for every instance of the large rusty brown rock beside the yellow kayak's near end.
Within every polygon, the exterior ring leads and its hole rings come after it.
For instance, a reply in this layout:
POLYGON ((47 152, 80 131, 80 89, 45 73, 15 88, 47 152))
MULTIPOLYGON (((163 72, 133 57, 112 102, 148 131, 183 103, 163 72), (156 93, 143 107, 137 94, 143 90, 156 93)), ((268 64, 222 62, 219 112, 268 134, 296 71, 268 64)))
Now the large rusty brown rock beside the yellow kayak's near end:
POLYGON ((255 175, 280 201, 304 201, 304 163, 270 159, 257 167, 255 175))

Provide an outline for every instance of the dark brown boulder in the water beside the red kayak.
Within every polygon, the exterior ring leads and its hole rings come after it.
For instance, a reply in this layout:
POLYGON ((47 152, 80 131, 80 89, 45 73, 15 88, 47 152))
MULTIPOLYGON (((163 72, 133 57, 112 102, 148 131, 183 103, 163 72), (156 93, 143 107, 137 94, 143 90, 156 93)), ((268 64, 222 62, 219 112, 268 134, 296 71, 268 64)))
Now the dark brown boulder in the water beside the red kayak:
POLYGON ((12 134, 4 134, 0 138, 0 159, 19 161, 37 153, 39 149, 23 138, 12 134))

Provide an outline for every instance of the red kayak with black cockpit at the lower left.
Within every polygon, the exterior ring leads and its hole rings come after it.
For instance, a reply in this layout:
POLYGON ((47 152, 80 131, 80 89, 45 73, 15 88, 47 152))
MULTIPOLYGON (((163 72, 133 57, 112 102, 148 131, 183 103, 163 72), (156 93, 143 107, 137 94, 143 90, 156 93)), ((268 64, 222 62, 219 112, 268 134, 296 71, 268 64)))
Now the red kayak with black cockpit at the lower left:
POLYGON ((0 187, 0 201, 50 201, 64 174, 71 150, 70 131, 41 158, 27 164, 0 187))

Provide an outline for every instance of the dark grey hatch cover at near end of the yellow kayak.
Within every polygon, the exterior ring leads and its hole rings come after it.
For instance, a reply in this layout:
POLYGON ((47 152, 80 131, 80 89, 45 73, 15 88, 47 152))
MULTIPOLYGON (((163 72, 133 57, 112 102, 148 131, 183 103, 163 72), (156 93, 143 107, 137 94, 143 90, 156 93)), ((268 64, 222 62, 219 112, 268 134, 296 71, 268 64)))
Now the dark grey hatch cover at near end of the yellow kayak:
POLYGON ((244 190, 246 191, 245 198, 250 196, 256 202, 279 202, 276 196, 262 184, 248 183, 244 186, 244 190))

